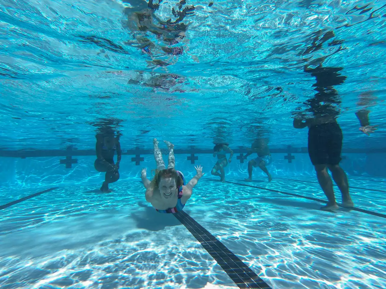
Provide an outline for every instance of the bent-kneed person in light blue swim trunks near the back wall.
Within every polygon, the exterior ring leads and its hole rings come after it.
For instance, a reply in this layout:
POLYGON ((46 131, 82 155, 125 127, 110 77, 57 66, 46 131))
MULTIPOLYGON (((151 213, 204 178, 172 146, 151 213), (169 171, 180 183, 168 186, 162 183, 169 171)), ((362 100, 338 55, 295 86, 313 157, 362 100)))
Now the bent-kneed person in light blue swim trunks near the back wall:
POLYGON ((257 154, 257 158, 250 160, 248 162, 248 178, 245 181, 252 181, 252 167, 256 168, 257 166, 264 171, 268 176, 268 181, 272 181, 272 176, 267 170, 267 166, 272 163, 271 153, 269 153, 268 139, 259 138, 256 139, 251 148, 248 150, 247 154, 244 156, 244 160, 252 153, 257 154))

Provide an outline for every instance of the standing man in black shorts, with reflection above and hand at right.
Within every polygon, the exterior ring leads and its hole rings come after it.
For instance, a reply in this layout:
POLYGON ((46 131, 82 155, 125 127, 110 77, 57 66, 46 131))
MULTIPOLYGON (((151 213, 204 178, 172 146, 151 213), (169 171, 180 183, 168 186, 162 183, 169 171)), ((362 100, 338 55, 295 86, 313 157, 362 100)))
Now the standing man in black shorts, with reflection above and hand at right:
MULTIPOLYGON (((322 210, 337 210, 339 206, 335 200, 332 180, 328 174, 330 170, 332 178, 342 193, 342 206, 354 207, 349 194, 349 184, 344 170, 339 166, 340 153, 342 151, 342 130, 336 121, 339 116, 340 97, 334 89, 335 85, 342 84, 346 77, 339 71, 342 67, 322 67, 320 64, 314 69, 305 67, 305 72, 316 78, 315 97, 308 99, 306 112, 310 117, 300 117, 298 114, 293 120, 294 128, 308 127, 308 155, 315 167, 318 182, 325 193, 328 203, 322 210)), ((360 130, 366 134, 373 132, 376 126, 370 126, 369 111, 361 109, 356 112, 361 123, 360 130)))

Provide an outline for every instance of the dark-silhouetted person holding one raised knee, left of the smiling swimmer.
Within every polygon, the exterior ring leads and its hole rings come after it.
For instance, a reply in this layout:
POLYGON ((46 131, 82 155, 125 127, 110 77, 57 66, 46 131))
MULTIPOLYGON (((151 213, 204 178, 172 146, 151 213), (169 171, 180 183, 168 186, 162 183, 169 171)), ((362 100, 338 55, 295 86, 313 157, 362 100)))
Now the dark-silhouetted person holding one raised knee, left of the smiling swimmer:
POLYGON ((103 181, 100 190, 104 193, 111 192, 108 184, 119 180, 119 163, 121 160, 121 148, 119 143, 119 136, 115 137, 114 133, 97 134, 97 144, 95 150, 97 151, 97 159, 94 162, 95 170, 99 172, 106 172, 105 181, 103 181), (114 154, 117 152, 117 163, 114 163, 114 154))

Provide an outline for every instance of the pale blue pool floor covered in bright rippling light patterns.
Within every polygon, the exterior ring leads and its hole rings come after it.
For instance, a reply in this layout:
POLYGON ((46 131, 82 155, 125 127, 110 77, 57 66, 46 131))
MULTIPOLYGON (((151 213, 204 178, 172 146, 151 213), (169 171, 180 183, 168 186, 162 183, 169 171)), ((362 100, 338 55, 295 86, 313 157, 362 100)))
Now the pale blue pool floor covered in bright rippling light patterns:
MULTIPOLYGON (((374 183, 350 180, 352 198, 384 213, 374 183)), ((385 218, 266 190, 325 200, 311 177, 249 185, 203 178, 184 211, 271 288, 386 288, 385 218)), ((237 288, 172 214, 146 203, 137 179, 112 188, 60 187, 2 210, 0 288, 237 288)))

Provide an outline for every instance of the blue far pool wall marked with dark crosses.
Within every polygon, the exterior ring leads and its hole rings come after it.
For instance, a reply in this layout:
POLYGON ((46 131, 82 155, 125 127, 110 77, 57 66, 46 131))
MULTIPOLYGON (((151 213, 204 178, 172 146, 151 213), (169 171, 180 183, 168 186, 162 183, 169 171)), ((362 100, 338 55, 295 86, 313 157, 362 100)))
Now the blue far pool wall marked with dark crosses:
MULTIPOLYGON (((242 180, 248 176, 248 161, 256 158, 256 154, 248 157, 243 163, 240 162, 240 155, 246 150, 235 150, 232 162, 225 169, 227 178, 242 180), (237 159, 239 158, 239 159, 237 159)), ((274 176, 296 176, 296 175, 315 175, 312 163, 306 152, 306 148, 292 148, 291 153, 285 153, 288 148, 276 149, 273 152, 273 161, 268 166, 269 171, 274 176)), ((349 175, 368 175, 386 177, 386 153, 367 152, 356 153, 342 152, 341 166, 349 175)), ((355 150, 351 150, 355 151, 355 150)), ((34 187, 44 185, 58 185, 60 183, 101 183, 103 173, 98 173, 94 169, 96 159, 94 151, 0 151, 0 186, 3 188, 34 187), (84 155, 82 155, 84 154, 84 155), (9 155, 6 157, 6 155, 9 155), (44 156, 56 155, 56 156, 44 156), (67 156, 66 156, 67 155, 67 156)), ((217 161, 213 158, 210 150, 205 149, 186 149, 176 150, 176 168, 185 173, 187 177, 195 174, 195 165, 202 165, 206 175, 217 161), (205 153, 200 153, 205 152, 205 153), (192 160, 194 158, 194 160, 192 160)), ((164 160, 167 163, 167 151, 164 151, 164 160)), ((116 157, 115 157, 116 160, 116 157)), ((120 179, 140 177, 141 168, 148 169, 148 176, 155 168, 155 161, 151 150, 123 150, 122 161, 120 164, 120 179)), ((266 177, 259 168, 253 170, 254 178, 266 177)))

